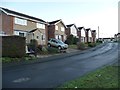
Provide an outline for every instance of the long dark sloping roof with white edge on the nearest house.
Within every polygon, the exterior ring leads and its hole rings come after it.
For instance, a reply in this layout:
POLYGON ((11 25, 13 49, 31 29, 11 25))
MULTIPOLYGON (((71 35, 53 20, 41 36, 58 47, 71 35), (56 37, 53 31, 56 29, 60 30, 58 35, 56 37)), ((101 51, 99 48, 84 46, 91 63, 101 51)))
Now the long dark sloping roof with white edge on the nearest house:
POLYGON ((7 15, 21 16, 21 17, 25 17, 25 18, 29 18, 29 19, 33 19, 33 20, 37 20, 37 21, 46 23, 46 22, 45 22, 44 20, 42 20, 42 19, 39 19, 39 18, 36 18, 36 17, 33 17, 33 16, 29 16, 29 15, 26 15, 26 14, 23 14, 23 13, 19 13, 19 12, 13 11, 13 10, 9 10, 9 9, 7 9, 7 8, 2 8, 2 7, 0 7, 0 10, 2 10, 2 11, 3 11, 4 13, 6 13, 7 15))

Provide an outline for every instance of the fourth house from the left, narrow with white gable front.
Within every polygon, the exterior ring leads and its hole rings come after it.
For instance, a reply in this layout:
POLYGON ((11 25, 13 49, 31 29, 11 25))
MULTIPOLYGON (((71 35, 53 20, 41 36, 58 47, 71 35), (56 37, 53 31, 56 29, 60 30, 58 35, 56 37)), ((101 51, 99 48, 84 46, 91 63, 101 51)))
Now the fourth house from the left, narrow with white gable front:
POLYGON ((84 27, 78 27, 78 36, 79 36, 79 41, 80 42, 87 42, 87 38, 86 38, 86 29, 84 27))

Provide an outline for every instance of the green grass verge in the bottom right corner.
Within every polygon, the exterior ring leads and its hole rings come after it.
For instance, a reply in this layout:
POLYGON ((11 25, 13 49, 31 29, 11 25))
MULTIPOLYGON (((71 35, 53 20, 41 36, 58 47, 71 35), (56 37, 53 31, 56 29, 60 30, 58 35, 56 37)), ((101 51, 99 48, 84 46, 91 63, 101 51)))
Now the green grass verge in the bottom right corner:
POLYGON ((118 67, 107 66, 76 80, 66 82, 59 88, 118 88, 118 67))

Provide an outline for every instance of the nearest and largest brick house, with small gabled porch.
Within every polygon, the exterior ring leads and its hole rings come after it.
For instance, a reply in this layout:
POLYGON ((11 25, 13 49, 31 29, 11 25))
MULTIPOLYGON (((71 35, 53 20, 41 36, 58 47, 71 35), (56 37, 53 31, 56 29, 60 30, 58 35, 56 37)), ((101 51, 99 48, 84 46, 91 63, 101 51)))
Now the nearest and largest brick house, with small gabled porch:
POLYGON ((26 37, 26 43, 36 39, 45 45, 48 39, 47 23, 39 18, 0 7, 0 35, 26 37), (39 33, 37 33, 39 32, 39 33))

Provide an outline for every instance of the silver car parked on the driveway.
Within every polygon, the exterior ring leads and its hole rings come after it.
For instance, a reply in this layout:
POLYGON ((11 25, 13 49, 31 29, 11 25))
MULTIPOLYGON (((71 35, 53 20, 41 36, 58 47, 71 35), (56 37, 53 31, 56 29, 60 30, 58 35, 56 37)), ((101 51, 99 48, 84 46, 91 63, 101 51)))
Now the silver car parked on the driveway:
POLYGON ((48 41, 48 46, 49 47, 56 47, 59 50, 65 50, 68 48, 68 45, 65 44, 64 42, 62 42, 61 40, 58 40, 58 39, 53 39, 53 38, 51 38, 48 41))

